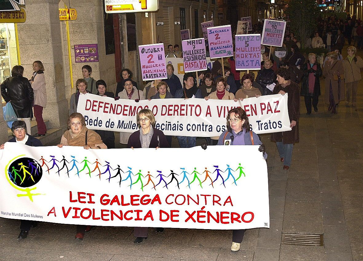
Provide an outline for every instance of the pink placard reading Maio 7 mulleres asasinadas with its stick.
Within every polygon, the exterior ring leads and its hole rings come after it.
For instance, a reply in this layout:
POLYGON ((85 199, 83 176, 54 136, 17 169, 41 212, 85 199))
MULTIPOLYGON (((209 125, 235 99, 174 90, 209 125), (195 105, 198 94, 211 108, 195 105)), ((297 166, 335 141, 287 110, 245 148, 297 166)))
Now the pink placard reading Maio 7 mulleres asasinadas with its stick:
POLYGON ((207 69, 204 38, 184 40, 181 42, 181 46, 183 47, 184 72, 204 71, 207 69))

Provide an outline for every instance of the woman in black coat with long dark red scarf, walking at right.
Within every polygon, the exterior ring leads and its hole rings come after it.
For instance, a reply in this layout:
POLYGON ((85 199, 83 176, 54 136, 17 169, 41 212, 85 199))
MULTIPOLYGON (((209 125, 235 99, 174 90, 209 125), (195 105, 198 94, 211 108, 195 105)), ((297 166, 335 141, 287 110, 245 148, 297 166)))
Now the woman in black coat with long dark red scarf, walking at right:
POLYGON ((310 53, 309 62, 304 63, 301 66, 303 72, 302 83, 301 83, 301 96, 305 98, 306 115, 311 114, 311 100, 313 100, 314 111, 318 111, 318 101, 320 95, 320 80, 323 72, 320 64, 317 63, 317 56, 310 53))

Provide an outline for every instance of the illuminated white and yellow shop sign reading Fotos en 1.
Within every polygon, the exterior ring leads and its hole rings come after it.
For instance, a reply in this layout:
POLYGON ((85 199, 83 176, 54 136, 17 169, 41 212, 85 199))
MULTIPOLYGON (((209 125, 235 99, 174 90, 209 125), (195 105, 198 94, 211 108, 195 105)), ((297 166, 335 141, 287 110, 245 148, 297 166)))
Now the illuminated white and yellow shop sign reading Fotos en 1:
POLYGON ((106 13, 155 12, 159 0, 104 0, 106 13))

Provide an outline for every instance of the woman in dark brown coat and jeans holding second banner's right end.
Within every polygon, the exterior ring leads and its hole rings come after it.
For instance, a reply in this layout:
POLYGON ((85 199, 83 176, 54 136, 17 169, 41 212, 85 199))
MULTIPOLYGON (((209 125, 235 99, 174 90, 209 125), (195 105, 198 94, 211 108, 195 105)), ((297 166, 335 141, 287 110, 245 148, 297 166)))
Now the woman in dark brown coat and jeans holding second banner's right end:
POLYGON ((290 119, 290 131, 275 132, 271 135, 271 141, 276 142, 280 160, 284 163, 284 170, 290 168, 291 157, 295 142, 299 142, 299 117, 300 117, 300 93, 299 86, 290 80, 290 74, 286 68, 277 70, 277 81, 272 94, 289 94, 287 99, 287 112, 290 119))

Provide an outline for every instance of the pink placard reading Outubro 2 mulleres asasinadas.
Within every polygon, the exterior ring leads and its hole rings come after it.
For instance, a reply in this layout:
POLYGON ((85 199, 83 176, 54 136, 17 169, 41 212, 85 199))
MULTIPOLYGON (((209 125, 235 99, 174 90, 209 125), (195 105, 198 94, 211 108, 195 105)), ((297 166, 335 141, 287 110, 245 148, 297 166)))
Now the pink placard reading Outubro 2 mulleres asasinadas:
POLYGON ((139 45, 142 80, 167 79, 163 43, 139 45))

